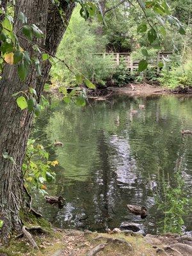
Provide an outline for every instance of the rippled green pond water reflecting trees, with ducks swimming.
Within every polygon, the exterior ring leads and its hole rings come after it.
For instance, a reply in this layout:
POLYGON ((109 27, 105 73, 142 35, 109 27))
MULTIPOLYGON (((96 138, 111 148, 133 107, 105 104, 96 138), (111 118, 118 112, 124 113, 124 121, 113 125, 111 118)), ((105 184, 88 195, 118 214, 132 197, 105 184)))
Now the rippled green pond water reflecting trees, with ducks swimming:
POLYGON ((67 204, 58 209, 36 194, 35 205, 61 228, 102 231, 131 221, 151 234, 192 230, 192 136, 182 129, 192 129, 192 97, 116 95, 83 108, 52 100, 32 136, 59 161, 47 192, 67 204), (147 218, 127 204, 145 205, 147 218))

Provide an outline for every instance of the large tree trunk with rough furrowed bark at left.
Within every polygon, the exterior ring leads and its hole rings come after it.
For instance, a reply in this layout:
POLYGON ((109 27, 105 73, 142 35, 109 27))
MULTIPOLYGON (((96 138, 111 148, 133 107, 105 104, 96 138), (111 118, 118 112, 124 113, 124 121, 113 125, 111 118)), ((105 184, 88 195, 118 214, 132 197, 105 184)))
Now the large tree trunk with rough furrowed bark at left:
MULTIPOLYGON (((45 38, 36 40, 36 44, 55 54, 67 28, 74 3, 68 4, 67 1, 60 1, 65 12, 63 22, 58 8, 52 4, 51 0, 17 0, 16 2, 15 31, 18 31, 21 26, 17 16, 22 11, 28 17, 28 24, 34 23, 44 32, 45 38)), ((36 54, 26 40, 22 40, 22 45, 30 54, 36 54)), ((24 193, 22 163, 33 113, 27 110, 21 111, 12 95, 33 87, 39 99, 50 68, 48 61, 43 63, 42 77, 37 79, 35 67, 31 67, 28 78, 25 83, 22 83, 17 76, 17 67, 14 65, 4 67, 0 82, 0 220, 4 222, 0 230, 0 239, 3 242, 8 240, 12 230, 20 230, 22 226, 20 211, 26 211, 26 205, 28 205, 24 193), (4 152, 13 157, 14 161, 5 159, 4 152)))

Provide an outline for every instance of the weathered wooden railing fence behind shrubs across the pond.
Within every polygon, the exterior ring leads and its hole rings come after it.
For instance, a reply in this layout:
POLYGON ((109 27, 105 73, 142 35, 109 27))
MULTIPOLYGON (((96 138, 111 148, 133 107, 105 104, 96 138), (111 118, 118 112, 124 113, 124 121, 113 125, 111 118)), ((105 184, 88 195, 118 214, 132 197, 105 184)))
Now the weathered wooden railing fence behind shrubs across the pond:
MULTIPOLYGON (((163 58, 169 58, 173 52, 158 52, 157 58, 153 60, 148 60, 148 64, 151 67, 156 67, 159 61, 163 60, 163 58)), ((105 52, 105 53, 96 53, 95 55, 103 56, 111 56, 117 65, 120 64, 120 60, 123 59, 127 65, 127 68, 130 68, 131 71, 134 69, 138 69, 138 64, 140 60, 133 60, 131 57, 131 52, 105 52)))

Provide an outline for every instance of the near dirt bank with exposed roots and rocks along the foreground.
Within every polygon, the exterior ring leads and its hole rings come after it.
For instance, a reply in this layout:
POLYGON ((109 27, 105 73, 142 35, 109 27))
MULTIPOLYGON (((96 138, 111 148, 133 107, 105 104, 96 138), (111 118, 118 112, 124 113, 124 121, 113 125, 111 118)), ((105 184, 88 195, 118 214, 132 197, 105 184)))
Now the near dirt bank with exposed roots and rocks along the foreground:
POLYGON ((166 234, 142 236, 132 231, 97 233, 77 230, 54 230, 51 234, 33 236, 39 251, 28 239, 12 241, 8 248, 0 248, 1 256, 154 256, 192 255, 192 237, 166 234))

